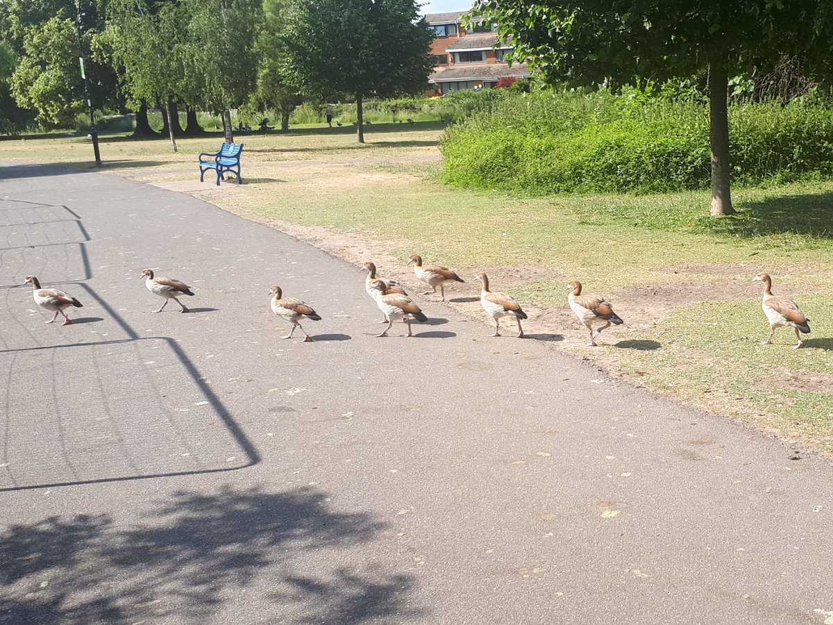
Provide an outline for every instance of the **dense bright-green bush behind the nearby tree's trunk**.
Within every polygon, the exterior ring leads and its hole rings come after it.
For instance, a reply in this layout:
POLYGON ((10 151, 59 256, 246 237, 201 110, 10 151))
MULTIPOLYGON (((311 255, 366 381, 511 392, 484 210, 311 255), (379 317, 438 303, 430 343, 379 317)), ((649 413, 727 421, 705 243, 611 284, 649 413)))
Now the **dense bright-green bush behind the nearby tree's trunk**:
MULTIPOLYGON (((509 92, 498 104, 446 131, 447 183, 520 194, 710 185, 708 109, 701 102, 639 92, 509 92)), ((833 174, 831 113, 821 102, 731 106, 735 182, 833 174)))

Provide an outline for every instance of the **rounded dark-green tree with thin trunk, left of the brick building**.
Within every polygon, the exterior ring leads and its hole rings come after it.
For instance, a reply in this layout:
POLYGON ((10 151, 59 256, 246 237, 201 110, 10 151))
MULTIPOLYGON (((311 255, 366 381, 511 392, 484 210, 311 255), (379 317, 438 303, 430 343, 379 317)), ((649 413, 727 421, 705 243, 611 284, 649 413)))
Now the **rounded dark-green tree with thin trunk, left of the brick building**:
POLYGON ((325 99, 357 102, 423 91, 433 69, 434 33, 414 0, 288 0, 284 40, 294 81, 325 99))

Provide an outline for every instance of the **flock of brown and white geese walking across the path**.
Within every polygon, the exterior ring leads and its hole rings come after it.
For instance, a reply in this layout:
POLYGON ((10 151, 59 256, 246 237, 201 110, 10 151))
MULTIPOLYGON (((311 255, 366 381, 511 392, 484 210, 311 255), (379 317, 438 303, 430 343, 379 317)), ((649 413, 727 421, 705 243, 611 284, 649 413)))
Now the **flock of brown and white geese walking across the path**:
MULTIPOLYGON (((443 302, 446 301, 446 284, 465 282, 465 280, 447 267, 442 267, 441 265, 423 265, 422 258, 417 254, 413 254, 408 258, 407 264, 413 264, 416 278, 419 278, 431 287, 431 291, 425 291, 421 295, 436 293, 436 288, 439 287, 441 301, 443 302)), ((377 334, 377 336, 387 337, 387 333, 392 328, 393 323, 400 320, 407 323, 408 327, 407 334, 402 336, 413 336, 411 330, 412 320, 417 322, 427 321, 421 308, 408 296, 407 291, 402 287, 401 283, 398 283, 396 280, 377 277, 376 265, 373 263, 364 263, 364 268, 367 269, 365 290, 367 290, 367 294, 373 298, 382 311, 384 318, 379 323, 387 323, 387 327, 382 330, 382 333, 377 334)), ((145 286, 147 286, 147 289, 164 300, 162 306, 154 310, 153 313, 162 313, 162 310, 170 300, 175 300, 180 305, 182 308, 180 313, 188 312, 188 308, 179 301, 179 298, 182 296, 192 296, 194 294, 186 283, 174 278, 156 276, 152 269, 143 269, 141 277, 145 278, 145 286)), ((523 338, 524 333, 521 327, 521 319, 526 319, 527 317, 521 305, 508 293, 489 290, 489 278, 485 272, 478 273, 475 279, 481 283, 480 303, 483 310, 495 322, 495 332, 491 336, 501 336, 501 318, 510 317, 514 318, 517 323, 517 338, 523 338)), ((752 278, 752 281, 762 282, 765 285, 761 308, 763 308, 766 319, 770 324, 770 335, 766 338, 766 341, 761 342, 761 345, 772 343, 772 337, 775 335, 776 328, 792 328, 796 332, 796 340, 798 341, 794 347, 801 348, 804 343, 801 341, 800 333, 810 332, 809 319, 801 312, 801 309, 798 308, 795 302, 787 298, 776 297, 772 294, 772 278, 770 278, 768 273, 759 273, 755 278, 752 278)), ((65 293, 57 288, 42 288, 40 282, 34 276, 27 276, 25 283, 32 284, 32 298, 34 298, 35 303, 41 308, 54 313, 52 319, 46 323, 54 323, 60 313, 64 318, 62 325, 67 326, 72 322, 64 311, 70 307, 82 307, 82 303, 77 298, 73 298, 69 293, 65 293)), ((576 313, 576 317, 590 332, 589 345, 596 347, 596 338, 599 337, 602 330, 610 328, 613 324, 620 325, 624 323, 619 315, 613 311, 611 304, 606 302, 605 298, 591 293, 582 293, 581 283, 578 280, 571 280, 570 283, 567 283, 565 290, 570 292, 567 296, 567 301, 570 304, 572 312, 576 313)), ((284 297, 282 288, 277 284, 269 288, 269 293, 272 295, 272 313, 275 313, 278 317, 292 324, 289 333, 282 338, 292 338, 292 333, 295 332, 295 328, 300 328, 305 337, 302 343, 311 342, 312 337, 302 327, 301 320, 310 319, 312 321, 321 321, 321 316, 309 304, 302 302, 302 300, 284 297)))

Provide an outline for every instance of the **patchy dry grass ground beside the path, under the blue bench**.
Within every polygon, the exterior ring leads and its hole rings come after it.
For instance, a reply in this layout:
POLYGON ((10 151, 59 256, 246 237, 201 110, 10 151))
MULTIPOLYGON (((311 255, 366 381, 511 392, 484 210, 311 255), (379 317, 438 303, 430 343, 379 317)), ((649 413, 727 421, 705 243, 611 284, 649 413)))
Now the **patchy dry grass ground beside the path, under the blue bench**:
MULTIPOLYGON (((103 138, 102 171, 202 198, 337 257, 373 260, 414 283, 412 253, 466 278, 449 305, 486 323, 471 278, 514 295, 526 331, 613 376, 756 423, 804 448, 833 451, 833 183, 736 189, 739 215, 711 219, 707 192, 516 198, 441 183, 440 123, 298 128, 242 135, 242 185, 197 175, 222 137, 103 138), (806 348, 761 313, 761 271, 811 319, 806 348), (580 279, 625 319, 586 346, 564 287, 580 279)), ((7 156, 90 168, 83 138, 11 139, 7 156)), ((507 333, 511 328, 506 328, 507 333)), ((484 328, 486 332, 486 328, 484 328)), ((495 339, 499 340, 499 339, 495 339)))

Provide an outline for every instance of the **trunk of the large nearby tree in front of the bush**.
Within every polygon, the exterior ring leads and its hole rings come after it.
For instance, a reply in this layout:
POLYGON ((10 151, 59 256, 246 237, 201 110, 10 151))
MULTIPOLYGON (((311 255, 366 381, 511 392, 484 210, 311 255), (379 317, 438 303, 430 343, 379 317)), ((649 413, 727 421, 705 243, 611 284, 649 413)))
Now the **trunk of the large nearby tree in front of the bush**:
POLYGON ((729 71, 725 55, 712 58, 709 67, 709 117, 711 122, 711 214, 732 215, 729 169, 729 71))

